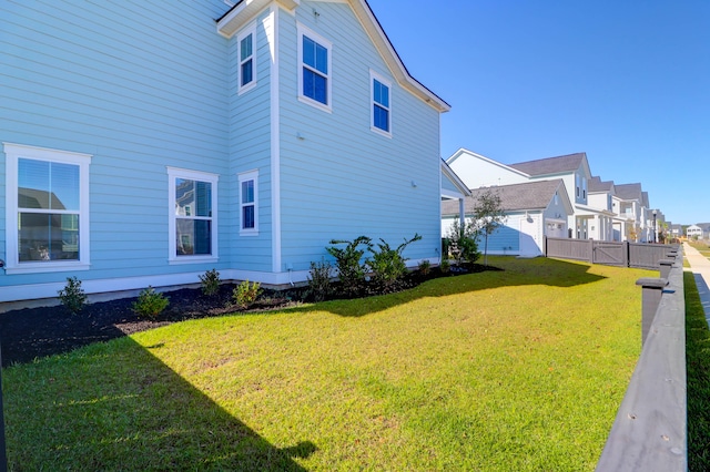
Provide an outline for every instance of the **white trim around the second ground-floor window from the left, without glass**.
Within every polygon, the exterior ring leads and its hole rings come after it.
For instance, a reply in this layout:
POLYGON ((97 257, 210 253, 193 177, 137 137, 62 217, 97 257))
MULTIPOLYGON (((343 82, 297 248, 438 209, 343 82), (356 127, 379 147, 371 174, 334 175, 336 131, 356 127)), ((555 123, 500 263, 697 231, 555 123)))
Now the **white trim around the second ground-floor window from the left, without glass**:
POLYGON ((217 254, 217 181, 220 176, 207 172, 191 171, 186 168, 178 168, 168 166, 168 263, 178 264, 201 264, 215 263, 219 259, 217 254), (187 181, 209 182, 212 184, 212 254, 209 255, 187 255, 178 256, 178 247, 175 246, 175 179, 184 178, 187 181))

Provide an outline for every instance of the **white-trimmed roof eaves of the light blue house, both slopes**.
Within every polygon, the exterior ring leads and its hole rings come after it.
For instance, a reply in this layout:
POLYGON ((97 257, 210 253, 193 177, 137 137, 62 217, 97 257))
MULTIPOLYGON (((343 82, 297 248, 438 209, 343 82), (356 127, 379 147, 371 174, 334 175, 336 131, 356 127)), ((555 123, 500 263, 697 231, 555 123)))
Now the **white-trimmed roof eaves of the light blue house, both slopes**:
MULTIPOLYGON (((240 0, 234 7, 216 20, 217 32, 224 37, 231 38, 272 1, 273 0, 240 0)), ((412 76, 412 74, 409 74, 409 71, 402 62, 399 54, 395 50, 394 45, 392 45, 389 38, 387 38, 385 30, 383 30, 379 20, 377 20, 375 13, 373 13, 373 10, 369 8, 369 4, 367 4, 367 1, 345 0, 345 2, 349 4, 355 12, 355 16, 377 48, 377 51, 379 51, 384 61, 387 63, 387 66, 397 83, 415 96, 426 102, 429 106, 437 110, 439 113, 448 112, 452 109, 452 105, 446 103, 440 96, 432 92, 429 89, 424 86, 422 82, 417 81, 412 76)), ((301 0, 276 0, 276 3, 288 11, 293 11, 301 6, 301 0)))

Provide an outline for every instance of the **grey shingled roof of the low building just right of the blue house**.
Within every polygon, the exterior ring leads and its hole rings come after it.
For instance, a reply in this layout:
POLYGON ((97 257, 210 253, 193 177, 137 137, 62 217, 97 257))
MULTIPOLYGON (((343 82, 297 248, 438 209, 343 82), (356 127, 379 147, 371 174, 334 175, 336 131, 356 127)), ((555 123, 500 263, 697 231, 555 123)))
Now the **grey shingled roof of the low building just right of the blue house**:
MULTIPOLYGON (((464 212, 473 214, 478 196, 494 191, 500 197, 500 207, 505 212, 524 212, 526 209, 545 209, 549 206, 555 193, 566 202, 571 213, 571 204, 567 197, 565 183, 560 178, 550 181, 526 182, 524 184, 500 185, 496 187, 473 188, 471 195, 464 198, 464 212)), ((442 202, 442 216, 457 216, 458 202, 442 202)))

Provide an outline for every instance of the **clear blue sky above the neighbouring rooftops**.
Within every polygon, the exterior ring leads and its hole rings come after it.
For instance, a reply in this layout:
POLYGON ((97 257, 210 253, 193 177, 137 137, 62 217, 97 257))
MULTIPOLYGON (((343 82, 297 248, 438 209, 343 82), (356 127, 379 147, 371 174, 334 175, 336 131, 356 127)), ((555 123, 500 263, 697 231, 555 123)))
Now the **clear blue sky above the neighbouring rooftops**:
POLYGON ((442 156, 586 152, 673 223, 710 222, 710 1, 368 0, 452 105, 442 156))

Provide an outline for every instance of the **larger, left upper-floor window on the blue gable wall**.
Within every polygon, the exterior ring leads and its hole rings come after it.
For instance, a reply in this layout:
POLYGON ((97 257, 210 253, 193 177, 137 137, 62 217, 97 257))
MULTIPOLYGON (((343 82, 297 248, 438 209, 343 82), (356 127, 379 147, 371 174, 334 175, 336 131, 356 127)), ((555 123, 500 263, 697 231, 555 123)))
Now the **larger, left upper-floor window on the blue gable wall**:
POLYGON ((331 111, 329 41, 303 25, 298 25, 298 99, 331 111))

